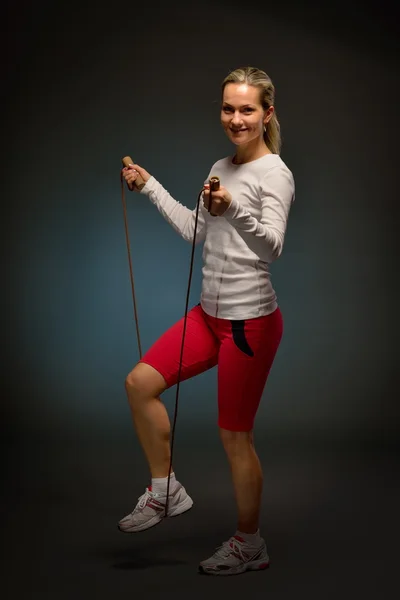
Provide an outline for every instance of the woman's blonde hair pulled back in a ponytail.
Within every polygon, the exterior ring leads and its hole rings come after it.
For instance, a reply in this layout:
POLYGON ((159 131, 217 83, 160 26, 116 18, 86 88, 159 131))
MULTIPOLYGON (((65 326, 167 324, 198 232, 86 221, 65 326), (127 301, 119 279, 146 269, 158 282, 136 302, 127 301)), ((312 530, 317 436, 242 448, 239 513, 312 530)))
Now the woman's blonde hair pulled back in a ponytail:
MULTIPOLYGON (((222 93, 228 83, 246 83, 247 85, 257 87, 260 90, 260 102, 264 110, 267 110, 270 106, 274 106, 275 86, 264 71, 255 67, 235 69, 223 80, 222 93)), ((265 126, 264 141, 271 152, 280 154, 282 145, 281 128, 275 110, 265 126)))

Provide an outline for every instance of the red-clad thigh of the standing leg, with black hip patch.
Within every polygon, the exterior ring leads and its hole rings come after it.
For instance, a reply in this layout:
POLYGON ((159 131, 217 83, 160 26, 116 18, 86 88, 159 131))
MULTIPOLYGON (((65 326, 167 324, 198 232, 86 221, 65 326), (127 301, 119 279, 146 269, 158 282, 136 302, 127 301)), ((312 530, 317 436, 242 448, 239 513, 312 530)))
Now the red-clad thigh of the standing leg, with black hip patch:
POLYGON ((280 309, 225 325, 218 360, 218 425, 250 431, 278 350, 283 321, 280 309))

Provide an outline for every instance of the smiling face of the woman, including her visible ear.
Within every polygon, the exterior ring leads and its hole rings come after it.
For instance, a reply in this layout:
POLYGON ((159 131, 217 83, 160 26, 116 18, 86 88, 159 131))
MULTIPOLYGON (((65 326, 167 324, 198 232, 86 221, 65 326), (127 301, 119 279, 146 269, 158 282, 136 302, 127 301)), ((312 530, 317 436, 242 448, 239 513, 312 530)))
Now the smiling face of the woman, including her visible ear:
POLYGON ((222 98, 222 127, 231 142, 237 146, 247 144, 263 137, 273 110, 272 106, 264 110, 258 88, 246 83, 228 83, 222 98))

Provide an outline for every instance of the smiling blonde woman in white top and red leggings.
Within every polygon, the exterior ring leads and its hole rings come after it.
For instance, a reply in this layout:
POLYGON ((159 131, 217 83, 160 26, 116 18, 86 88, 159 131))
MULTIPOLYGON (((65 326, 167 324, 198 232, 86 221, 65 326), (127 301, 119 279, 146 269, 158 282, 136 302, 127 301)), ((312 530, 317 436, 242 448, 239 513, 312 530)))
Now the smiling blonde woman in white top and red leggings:
MULTIPOLYGON (((209 574, 237 574, 268 566, 260 537, 262 470, 253 444, 253 426, 283 331, 269 264, 277 259, 294 199, 291 171, 279 156, 280 127, 274 86, 253 67, 230 73, 222 84, 221 124, 236 147, 233 157, 215 163, 204 185, 196 242, 204 241, 200 304, 189 311, 181 381, 218 366, 218 426, 232 472, 237 530, 213 556, 200 563, 209 574), (210 210, 209 210, 210 209, 210 210)), ((149 197, 184 239, 193 242, 196 211, 182 206, 139 165, 123 171, 128 185, 149 197), (139 177, 141 184, 135 183, 139 177)), ((133 423, 146 455, 151 486, 121 531, 142 531, 165 514, 170 463, 170 423, 160 395, 176 384, 183 319, 143 356, 126 379, 133 423)), ((168 515, 193 501, 171 472, 168 515)))

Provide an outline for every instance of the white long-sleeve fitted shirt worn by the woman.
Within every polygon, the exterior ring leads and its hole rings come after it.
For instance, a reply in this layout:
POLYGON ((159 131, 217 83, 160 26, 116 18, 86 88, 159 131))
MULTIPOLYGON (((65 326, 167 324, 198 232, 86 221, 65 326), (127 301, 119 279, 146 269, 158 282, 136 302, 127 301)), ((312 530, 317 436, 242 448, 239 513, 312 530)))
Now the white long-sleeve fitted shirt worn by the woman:
MULTIPOLYGON (((213 217, 200 200, 196 243, 204 241, 201 305, 222 319, 267 315, 278 306, 268 267, 282 252, 294 200, 293 175, 277 154, 239 165, 226 157, 213 165, 205 182, 214 175, 232 202, 222 216, 213 217)), ((154 177, 141 193, 193 242, 196 207, 177 202, 154 177)))

